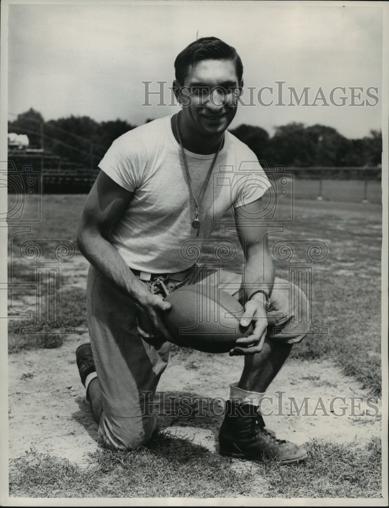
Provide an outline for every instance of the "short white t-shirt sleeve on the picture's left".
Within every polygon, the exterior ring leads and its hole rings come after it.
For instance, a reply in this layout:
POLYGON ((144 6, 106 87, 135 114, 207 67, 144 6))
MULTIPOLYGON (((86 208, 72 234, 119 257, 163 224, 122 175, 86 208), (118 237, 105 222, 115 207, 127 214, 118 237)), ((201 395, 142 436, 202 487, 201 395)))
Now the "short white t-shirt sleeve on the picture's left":
POLYGON ((133 131, 117 138, 99 164, 106 175, 130 192, 141 186, 146 166, 144 141, 133 131))

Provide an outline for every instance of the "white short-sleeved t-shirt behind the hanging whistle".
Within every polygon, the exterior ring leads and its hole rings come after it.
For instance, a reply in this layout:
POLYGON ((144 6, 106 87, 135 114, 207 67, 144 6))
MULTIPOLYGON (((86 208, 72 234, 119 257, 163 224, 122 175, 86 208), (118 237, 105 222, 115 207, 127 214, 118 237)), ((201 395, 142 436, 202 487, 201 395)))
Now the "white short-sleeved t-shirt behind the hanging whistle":
MULTIPOLYGON (((185 150, 196 198, 214 154, 185 150)), ((116 183, 134 193, 110 231, 109 240, 130 268, 149 273, 178 272, 193 261, 183 256, 187 240, 204 241, 231 206, 260 198, 270 182, 255 154, 225 131, 200 205, 200 236, 191 227, 195 202, 187 183, 181 147, 171 116, 153 120, 117 138, 99 164, 116 183)))

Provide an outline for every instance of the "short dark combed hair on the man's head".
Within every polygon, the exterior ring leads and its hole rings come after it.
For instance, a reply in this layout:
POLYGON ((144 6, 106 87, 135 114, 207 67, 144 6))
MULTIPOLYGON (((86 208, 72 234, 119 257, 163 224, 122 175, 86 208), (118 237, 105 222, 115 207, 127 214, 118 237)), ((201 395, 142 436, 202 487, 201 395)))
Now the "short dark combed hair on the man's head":
POLYGON ((242 81, 243 64, 235 48, 217 37, 202 37, 190 43, 179 53, 175 62, 176 80, 183 85, 187 76, 188 66, 201 60, 232 60, 235 64, 238 82, 242 81))

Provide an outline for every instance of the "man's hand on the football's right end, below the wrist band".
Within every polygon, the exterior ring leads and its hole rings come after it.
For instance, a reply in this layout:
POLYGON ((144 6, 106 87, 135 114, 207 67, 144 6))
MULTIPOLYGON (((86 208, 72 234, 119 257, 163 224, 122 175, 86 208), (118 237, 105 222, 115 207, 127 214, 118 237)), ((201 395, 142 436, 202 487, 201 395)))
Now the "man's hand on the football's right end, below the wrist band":
POLYGON ((255 355, 262 351, 268 326, 263 293, 253 295, 244 307, 240 325, 247 328, 251 322, 254 327, 252 334, 237 339, 235 347, 230 351, 230 356, 255 355))

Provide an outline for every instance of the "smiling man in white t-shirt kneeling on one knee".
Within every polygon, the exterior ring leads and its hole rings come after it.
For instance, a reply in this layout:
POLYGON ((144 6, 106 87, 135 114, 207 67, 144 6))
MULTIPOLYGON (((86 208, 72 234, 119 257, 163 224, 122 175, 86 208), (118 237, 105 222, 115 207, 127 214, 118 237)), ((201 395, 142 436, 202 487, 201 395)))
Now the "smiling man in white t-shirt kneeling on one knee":
POLYGON ((297 287, 275 277, 264 228, 247 221, 261 216, 271 184, 255 154, 226 130, 243 86, 242 62, 234 48, 209 37, 187 46, 175 71, 181 111, 115 140, 85 204, 78 243, 91 264, 91 343, 77 350, 81 380, 107 446, 134 448, 150 439, 156 421, 145 414, 144 397, 155 394, 171 339, 162 317, 170 304, 163 298, 182 285, 207 282, 197 280, 183 245, 206 241, 231 209, 245 265, 243 275, 220 271, 217 284, 241 301, 241 324, 252 322, 253 332, 230 352, 244 355, 245 363, 230 385, 220 453, 299 462, 305 450, 277 439, 258 412, 293 343, 308 332, 309 307, 297 287), (222 168, 234 175, 215 187, 212 177, 222 168))

